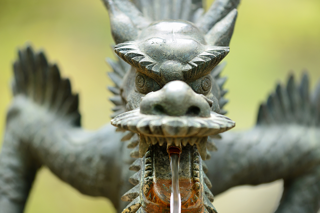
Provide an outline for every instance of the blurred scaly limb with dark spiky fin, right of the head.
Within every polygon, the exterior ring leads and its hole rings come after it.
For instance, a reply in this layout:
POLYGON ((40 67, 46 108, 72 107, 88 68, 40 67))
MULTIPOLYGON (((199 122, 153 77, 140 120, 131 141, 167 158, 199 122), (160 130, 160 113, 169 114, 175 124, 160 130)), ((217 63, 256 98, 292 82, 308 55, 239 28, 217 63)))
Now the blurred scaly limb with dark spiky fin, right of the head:
POLYGON ((320 207, 320 84, 313 95, 308 76, 300 85, 289 78, 259 110, 246 132, 222 133, 218 151, 206 161, 212 193, 237 185, 284 179, 277 213, 314 212, 320 207))

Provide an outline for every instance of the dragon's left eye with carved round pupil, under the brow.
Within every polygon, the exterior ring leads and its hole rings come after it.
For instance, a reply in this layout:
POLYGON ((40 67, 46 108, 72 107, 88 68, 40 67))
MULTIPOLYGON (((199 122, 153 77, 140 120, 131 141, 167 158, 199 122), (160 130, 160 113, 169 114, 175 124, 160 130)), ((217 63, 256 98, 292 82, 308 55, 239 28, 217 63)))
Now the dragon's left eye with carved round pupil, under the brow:
POLYGON ((136 73, 136 91, 142 94, 147 94, 152 91, 157 91, 160 86, 151 77, 141 73, 136 73))

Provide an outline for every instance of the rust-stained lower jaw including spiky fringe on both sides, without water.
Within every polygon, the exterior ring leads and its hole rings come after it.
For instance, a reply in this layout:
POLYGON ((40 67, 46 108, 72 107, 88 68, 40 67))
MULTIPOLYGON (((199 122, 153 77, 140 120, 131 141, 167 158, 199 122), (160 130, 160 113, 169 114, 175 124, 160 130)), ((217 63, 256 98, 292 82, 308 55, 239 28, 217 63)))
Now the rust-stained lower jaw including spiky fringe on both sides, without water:
MULTIPOLYGON (((212 184, 204 173, 206 166, 195 146, 183 148, 180 165, 181 213, 216 213, 209 189, 212 184)), ((131 201, 123 213, 169 213, 172 174, 166 148, 158 144, 150 146, 130 168, 137 171, 129 179, 136 186, 122 196, 123 201, 131 201)))

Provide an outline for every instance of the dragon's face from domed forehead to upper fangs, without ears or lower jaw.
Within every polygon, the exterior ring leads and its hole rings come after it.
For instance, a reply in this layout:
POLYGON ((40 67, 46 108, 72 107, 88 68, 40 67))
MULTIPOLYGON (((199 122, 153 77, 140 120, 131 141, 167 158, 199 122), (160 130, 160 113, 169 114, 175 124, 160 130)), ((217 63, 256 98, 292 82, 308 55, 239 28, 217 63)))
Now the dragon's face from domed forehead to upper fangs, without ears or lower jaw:
POLYGON ((115 51, 132 69, 121 86, 127 112, 112 124, 140 135, 140 157, 150 144, 196 144, 205 160, 207 137, 234 126, 219 114, 221 91, 211 75, 229 48, 206 45, 190 22, 164 20, 115 51))

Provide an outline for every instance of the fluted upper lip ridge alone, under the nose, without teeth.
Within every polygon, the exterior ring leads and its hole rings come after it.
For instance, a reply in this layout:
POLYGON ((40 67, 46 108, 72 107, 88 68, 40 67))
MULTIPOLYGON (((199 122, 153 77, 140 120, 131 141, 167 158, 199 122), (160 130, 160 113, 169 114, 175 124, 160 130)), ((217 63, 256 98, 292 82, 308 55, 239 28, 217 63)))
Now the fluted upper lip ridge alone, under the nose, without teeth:
POLYGON ((210 117, 146 115, 140 108, 124 112, 111 120, 111 124, 140 135, 162 138, 205 137, 225 132, 235 122, 224 115, 210 112, 210 117))

